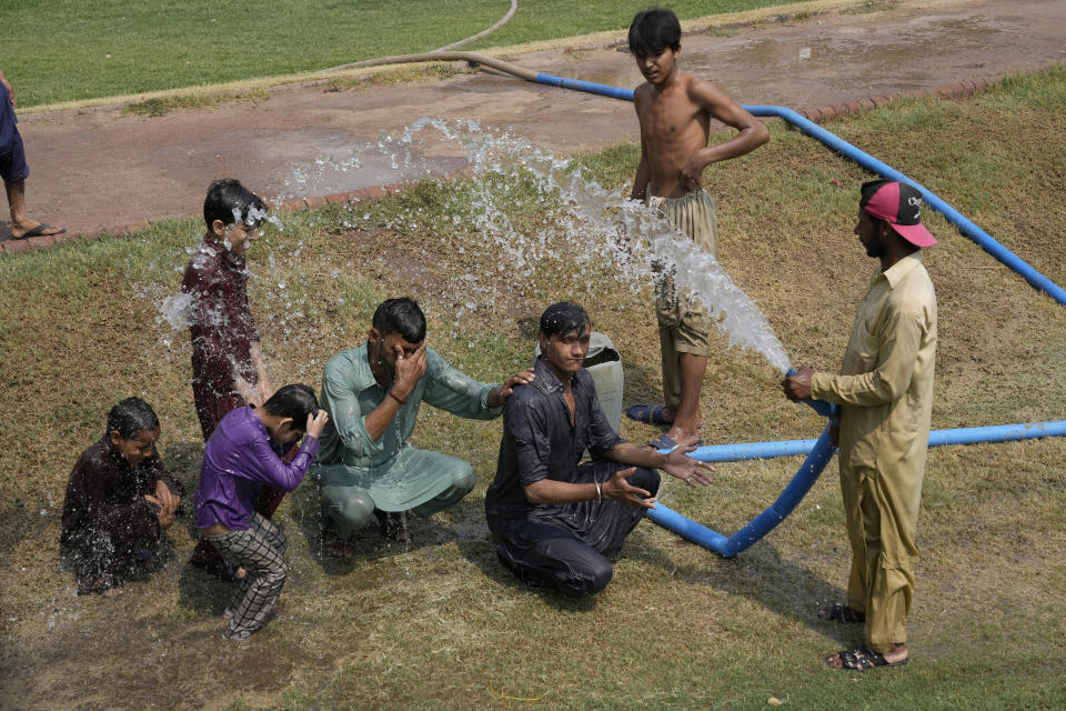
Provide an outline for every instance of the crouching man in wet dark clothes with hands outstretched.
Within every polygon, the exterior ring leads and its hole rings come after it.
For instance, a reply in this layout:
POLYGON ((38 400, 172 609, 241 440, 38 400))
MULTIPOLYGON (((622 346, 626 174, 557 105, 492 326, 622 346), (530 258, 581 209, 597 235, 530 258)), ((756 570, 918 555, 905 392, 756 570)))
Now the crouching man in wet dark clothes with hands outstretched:
POLYGON ((611 429, 582 367, 591 332, 579 306, 556 303, 541 316, 536 377, 504 404, 496 478, 485 494, 500 561, 527 584, 572 597, 611 581, 606 557, 655 503, 652 468, 693 487, 711 483, 713 471, 686 457, 695 438, 663 454, 611 429), (593 460, 581 464, 586 449, 593 460))

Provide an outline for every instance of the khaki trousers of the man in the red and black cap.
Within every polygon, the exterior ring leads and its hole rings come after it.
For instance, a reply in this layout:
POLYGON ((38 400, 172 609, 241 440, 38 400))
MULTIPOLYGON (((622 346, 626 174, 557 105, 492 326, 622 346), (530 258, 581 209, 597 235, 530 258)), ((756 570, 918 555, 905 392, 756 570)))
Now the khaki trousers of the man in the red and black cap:
POLYGON ((841 491, 852 545, 847 604, 866 613, 866 645, 884 654, 907 641, 922 473, 842 467, 841 491))

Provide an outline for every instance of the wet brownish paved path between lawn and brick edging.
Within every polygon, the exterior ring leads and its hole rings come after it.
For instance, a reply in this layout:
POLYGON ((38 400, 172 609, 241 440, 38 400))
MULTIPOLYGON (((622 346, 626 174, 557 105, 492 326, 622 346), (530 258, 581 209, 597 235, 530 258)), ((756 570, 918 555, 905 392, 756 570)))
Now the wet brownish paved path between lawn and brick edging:
MULTIPOLYGON (((1062 0, 914 0, 686 36, 681 61, 742 103, 803 109, 1048 68, 1066 62, 1064 37, 1062 0)), ((641 81, 617 48, 507 59, 612 86, 641 81)), ((637 136, 628 102, 493 71, 324 89, 292 86, 258 104, 158 118, 122 116, 121 108, 22 114, 31 214, 95 232, 195 214, 208 183, 223 177, 272 198, 415 178, 373 146, 422 116, 477 120, 555 151, 594 150, 637 136)), ((447 149, 424 151, 433 171, 462 166, 447 149)), ((9 224, 0 222, 0 240, 9 237, 9 224)))

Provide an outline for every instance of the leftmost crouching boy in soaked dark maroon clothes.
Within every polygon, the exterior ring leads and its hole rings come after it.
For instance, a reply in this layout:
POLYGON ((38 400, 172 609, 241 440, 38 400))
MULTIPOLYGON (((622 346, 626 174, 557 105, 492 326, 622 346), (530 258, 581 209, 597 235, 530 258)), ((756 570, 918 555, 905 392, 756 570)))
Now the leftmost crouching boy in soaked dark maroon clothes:
POLYGON ((158 439, 155 412, 128 398, 111 409, 108 431, 70 472, 60 545, 79 594, 113 597, 125 580, 158 565, 157 544, 184 495, 159 459, 158 439))

